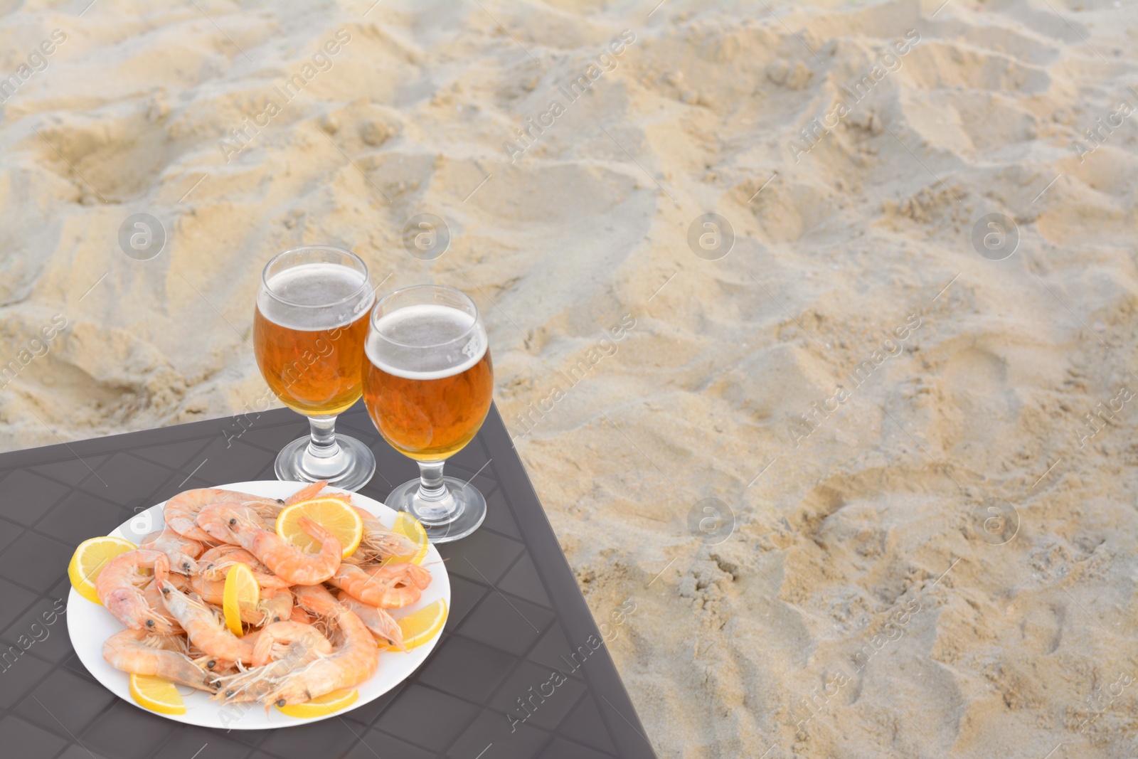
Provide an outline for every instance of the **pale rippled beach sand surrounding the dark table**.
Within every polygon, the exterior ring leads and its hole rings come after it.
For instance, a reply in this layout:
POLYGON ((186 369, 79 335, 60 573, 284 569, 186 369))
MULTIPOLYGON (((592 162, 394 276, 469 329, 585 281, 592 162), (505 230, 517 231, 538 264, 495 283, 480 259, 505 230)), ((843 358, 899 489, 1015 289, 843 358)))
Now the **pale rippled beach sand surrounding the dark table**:
POLYGON ((85 5, 0 2, 0 446, 241 411, 344 245, 480 304, 661 757, 1138 753, 1138 3, 85 5))

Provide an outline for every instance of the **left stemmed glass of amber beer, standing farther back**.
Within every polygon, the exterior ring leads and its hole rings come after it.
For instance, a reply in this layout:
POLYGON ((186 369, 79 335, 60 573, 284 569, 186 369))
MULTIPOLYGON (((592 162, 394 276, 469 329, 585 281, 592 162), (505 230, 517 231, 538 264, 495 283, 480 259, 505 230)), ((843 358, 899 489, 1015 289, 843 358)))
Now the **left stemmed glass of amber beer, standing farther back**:
POLYGON ((336 432, 336 416, 360 399, 363 341, 374 303, 368 266, 324 245, 286 250, 261 275, 253 317, 257 366, 269 389, 308 418, 310 435, 277 456, 277 477, 355 490, 376 472, 366 445, 336 432))

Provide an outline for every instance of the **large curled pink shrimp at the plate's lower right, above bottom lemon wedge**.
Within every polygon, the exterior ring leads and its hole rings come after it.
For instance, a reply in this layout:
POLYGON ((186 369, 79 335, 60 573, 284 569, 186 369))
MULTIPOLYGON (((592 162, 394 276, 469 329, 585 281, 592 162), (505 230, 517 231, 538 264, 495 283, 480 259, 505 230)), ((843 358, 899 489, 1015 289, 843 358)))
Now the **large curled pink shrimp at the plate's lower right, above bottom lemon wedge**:
POLYGON ((331 654, 277 677, 266 676, 249 683, 258 692, 270 687, 261 700, 267 706, 283 707, 304 703, 337 688, 355 687, 374 674, 379 666, 379 647, 376 638, 354 611, 337 603, 336 599, 320 585, 299 586, 297 601, 306 610, 328 617, 338 626, 343 645, 331 654))

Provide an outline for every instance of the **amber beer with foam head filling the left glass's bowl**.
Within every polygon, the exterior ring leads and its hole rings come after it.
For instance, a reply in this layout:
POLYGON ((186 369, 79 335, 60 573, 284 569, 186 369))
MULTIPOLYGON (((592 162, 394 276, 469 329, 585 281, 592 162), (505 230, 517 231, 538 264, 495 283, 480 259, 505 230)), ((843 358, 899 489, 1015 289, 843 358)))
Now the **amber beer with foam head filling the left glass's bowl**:
POLYGON ((253 317, 253 347, 269 388, 289 409, 335 415, 360 399, 368 311, 363 275, 335 263, 287 269, 267 281, 253 317), (337 307, 314 307, 343 302, 337 307), (307 304, 313 304, 308 306, 307 304))

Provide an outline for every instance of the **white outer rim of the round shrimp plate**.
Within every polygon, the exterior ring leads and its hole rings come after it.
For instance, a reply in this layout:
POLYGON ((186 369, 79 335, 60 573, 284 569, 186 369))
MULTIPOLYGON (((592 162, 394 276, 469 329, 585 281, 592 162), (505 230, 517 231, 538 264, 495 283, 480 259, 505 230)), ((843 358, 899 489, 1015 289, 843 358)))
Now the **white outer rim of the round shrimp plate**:
MULTIPOLYGON (((242 490, 242 492, 251 493, 251 494, 255 494, 255 495, 266 495, 267 497, 286 497, 287 494, 286 495, 262 494, 262 493, 258 493, 258 490, 256 488, 261 488, 261 487, 264 487, 264 486, 270 486, 270 489, 278 489, 278 488, 282 488, 282 487, 287 487, 287 486, 295 486, 290 490, 291 493, 295 493, 297 489, 299 489, 302 487, 306 487, 307 485, 310 485, 310 482, 294 482, 294 481, 288 481, 288 480, 245 480, 245 481, 228 482, 228 484, 224 484, 224 485, 216 485, 216 486, 211 486, 211 487, 216 487, 216 488, 220 488, 220 489, 242 490)), ((347 493, 347 494, 349 494, 352 496, 358 496, 358 498, 361 498, 363 502, 353 500, 353 505, 360 506, 360 508, 364 509, 365 511, 372 513, 373 515, 379 517, 385 523, 389 523, 388 520, 394 520, 395 515, 398 514, 397 511, 395 511, 390 506, 386 505, 385 503, 382 503, 380 501, 377 501, 376 498, 372 498, 370 496, 363 495, 361 493, 352 493, 349 490, 344 490, 341 488, 337 488, 337 487, 333 487, 333 486, 328 486, 325 488, 325 490, 332 490, 332 492, 337 492, 337 493, 347 493), (377 511, 379 513, 377 513, 377 511)), ((173 497, 173 496, 171 496, 171 497, 173 497)), ((109 536, 116 536, 116 537, 124 537, 125 539, 130 539, 130 537, 126 534, 126 529, 129 528, 131 521, 133 521, 134 519, 138 519, 139 517, 141 517, 142 514, 146 514, 146 513, 151 513, 151 514, 155 514, 157 517, 157 521, 154 522, 154 525, 151 526, 151 528, 150 528, 149 531, 154 531, 155 529, 160 529, 160 527, 165 525, 165 520, 163 519, 163 515, 162 515, 162 510, 163 510, 163 506, 165 504, 166 504, 166 501, 160 501, 160 502, 158 502, 158 503, 156 503, 156 504, 154 504, 154 505, 151 505, 151 506, 149 506, 147 509, 140 510, 133 517, 131 517, 130 519, 123 521, 122 523, 119 523, 118 526, 116 526, 113 530, 110 530, 109 533, 107 533, 107 535, 109 535, 109 536)), ((447 616, 450 617, 451 608, 452 608, 451 577, 450 577, 450 572, 446 569, 446 562, 443 561, 442 555, 438 553, 438 547, 435 544, 429 544, 428 545, 427 558, 423 561, 423 566, 431 572, 432 585, 435 585, 436 583, 439 583, 439 585, 437 585, 436 587, 438 587, 438 588, 442 589, 442 593, 440 593, 439 597, 443 597, 446 601, 447 616)), ((434 596, 435 594, 431 594, 431 595, 434 596)), ((426 603, 430 603, 431 601, 434 601, 434 599, 427 601, 426 603)), ((421 604, 423 604, 422 601, 420 601, 420 602, 418 602, 415 604, 412 604, 411 607, 409 607, 409 610, 413 611, 414 609, 419 608, 421 604)), ((91 601, 84 599, 83 596, 81 596, 79 594, 77 591, 75 591, 74 587, 71 587, 68 589, 67 609, 66 610, 68 612, 71 612, 72 609, 84 609, 84 608, 89 609, 90 613, 96 613, 96 614, 99 613, 99 611, 98 611, 99 609, 104 609, 101 605, 97 605, 97 604, 92 603, 91 601), (76 603, 76 605, 73 607, 72 605, 73 603, 76 603)), ((105 609, 104 609, 104 611, 106 612, 105 609)), ((409 613, 410 613, 410 611, 409 611, 409 613)), ((90 613, 81 613, 80 617, 88 617, 88 618, 90 618, 90 613)), ((72 613, 66 613, 65 616, 67 618, 67 635, 71 638, 72 649, 74 650, 75 655, 82 662, 83 668, 86 669, 88 674, 90 674, 91 677, 93 677, 94 680, 99 685, 101 685, 104 688, 106 688, 107 691, 109 691, 112 694, 114 694, 115 696, 119 698, 121 700, 125 701, 126 703, 131 704, 132 707, 134 707, 137 709, 141 709, 142 711, 147 712, 148 715, 154 715, 156 717, 163 717, 163 718, 170 719, 172 721, 181 723, 181 724, 184 724, 184 725, 195 725, 197 727, 206 727, 206 728, 224 729, 224 731, 230 731, 230 729, 248 729, 248 731, 280 729, 282 727, 295 727, 295 726, 299 726, 299 725, 311 725, 313 723, 322 721, 324 719, 330 719, 332 717, 340 717, 340 716, 344 716, 346 713, 349 713, 351 711, 353 711, 355 709, 358 709, 361 707, 364 707, 364 706, 371 703, 372 701, 379 699, 380 696, 385 695, 386 693, 389 693, 391 690, 394 690, 395 687, 399 686, 407 678, 410 678, 412 675, 414 675, 422 667, 422 665, 427 661, 427 659, 430 658, 430 654, 434 652, 435 646, 438 645, 438 642, 442 640, 443 632, 445 629, 445 625, 444 625, 444 629, 440 629, 439 633, 434 638, 431 638, 429 642, 423 643, 422 645, 413 649, 412 651, 410 651, 407 653, 401 653, 401 652, 397 652, 397 651, 384 651, 381 649, 380 650, 380 666, 382 666, 382 658, 385 655, 398 655, 398 657, 402 657, 402 655, 412 655, 418 661, 415 661, 414 665, 410 669, 407 669, 407 671, 405 674, 403 674, 402 677, 399 677, 398 679, 394 679, 389 685, 387 685, 387 687, 385 687, 385 688, 376 692, 374 694, 368 694, 365 696, 364 693, 363 693, 363 686, 374 679, 376 675, 372 675, 371 678, 369 678, 364 683, 362 683, 358 686, 356 686, 361 691, 360 698, 351 707, 347 707, 345 709, 340 709, 338 711, 335 711, 335 712, 331 712, 329 715, 324 715, 324 716, 321 716, 321 717, 308 717, 308 718, 290 717, 289 715, 286 715, 286 713, 281 712, 280 710, 269 709, 269 710, 265 711, 265 715, 266 715, 265 716, 265 720, 266 721, 259 723, 259 724, 253 724, 253 723, 242 724, 245 721, 245 716, 247 713, 249 713, 250 711, 259 711, 261 708, 262 708, 262 704, 256 703, 256 702, 251 702, 251 703, 248 703, 248 704, 240 704, 241 708, 244 709, 244 712, 239 717, 237 717, 232 723, 220 720, 220 718, 214 718, 212 720, 195 719, 193 717, 196 717, 197 715, 192 710, 189 710, 189 709, 187 710, 187 713, 184 713, 184 715, 163 715, 163 713, 159 713, 157 711, 151 711, 150 709, 147 709, 147 708, 142 707, 141 704, 139 704, 138 702, 135 702, 134 699, 132 699, 131 695, 130 695, 130 676, 126 673, 124 673, 124 671, 114 669, 113 667, 110 667, 109 663, 107 663, 102 659, 102 655, 101 655, 101 642, 98 643, 98 647, 99 647, 100 652, 94 654, 94 660, 97 661, 97 666, 94 666, 94 667, 89 666, 88 658, 90 658, 92 655, 91 651, 90 651, 91 650, 90 642, 86 641, 86 640, 80 640, 79 633, 76 630, 76 628, 80 625, 82 625, 82 620, 73 621, 73 620, 75 620, 76 617, 75 617, 75 614, 72 614, 72 613), (106 676, 107 678, 109 678, 109 676, 110 676, 107 670, 109 670, 109 673, 114 673, 116 675, 121 675, 122 676, 123 683, 121 684, 121 688, 115 687, 112 683, 105 682, 104 676, 106 676), (248 708, 245 708, 245 707, 248 707, 248 708)), ((109 619, 114 625, 117 625, 119 628, 125 629, 125 627, 123 627, 122 624, 118 622, 118 620, 114 619, 114 617, 110 617, 109 612, 106 612, 106 616, 107 616, 106 618, 109 619)), ((377 670, 377 674, 378 674, 378 671, 379 670, 377 670)), ((204 696, 205 694, 204 694, 204 692, 195 692, 195 693, 191 693, 190 696, 185 696, 185 698, 189 699, 189 698, 199 696, 199 695, 204 696)), ((225 709, 224 704, 215 704, 214 713, 221 712, 224 709, 225 709)), ((204 713, 204 712, 198 712, 198 713, 204 713)))

